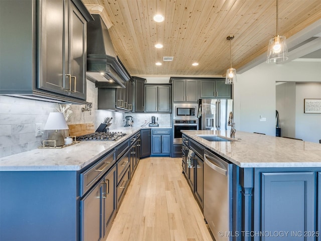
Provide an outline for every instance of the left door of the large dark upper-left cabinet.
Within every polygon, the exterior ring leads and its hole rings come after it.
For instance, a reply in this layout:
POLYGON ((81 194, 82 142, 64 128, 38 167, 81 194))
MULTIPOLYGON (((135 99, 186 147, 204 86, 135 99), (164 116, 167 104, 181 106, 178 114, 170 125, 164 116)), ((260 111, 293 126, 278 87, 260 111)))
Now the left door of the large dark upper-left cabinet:
POLYGON ((64 0, 39 2, 38 88, 66 95, 68 81, 64 70, 68 68, 65 64, 68 49, 64 46, 68 37, 68 28, 65 30, 68 14, 64 12, 64 3, 64 0))

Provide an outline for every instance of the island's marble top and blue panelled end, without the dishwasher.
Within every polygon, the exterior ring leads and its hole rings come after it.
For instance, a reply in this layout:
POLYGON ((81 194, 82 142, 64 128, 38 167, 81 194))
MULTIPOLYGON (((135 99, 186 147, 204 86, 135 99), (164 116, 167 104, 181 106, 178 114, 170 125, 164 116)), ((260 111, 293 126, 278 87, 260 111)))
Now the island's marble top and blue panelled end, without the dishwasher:
POLYGON ((219 240, 321 240, 321 145, 244 132, 234 140, 229 132, 182 132, 190 145, 233 164, 231 222, 213 233, 219 240))

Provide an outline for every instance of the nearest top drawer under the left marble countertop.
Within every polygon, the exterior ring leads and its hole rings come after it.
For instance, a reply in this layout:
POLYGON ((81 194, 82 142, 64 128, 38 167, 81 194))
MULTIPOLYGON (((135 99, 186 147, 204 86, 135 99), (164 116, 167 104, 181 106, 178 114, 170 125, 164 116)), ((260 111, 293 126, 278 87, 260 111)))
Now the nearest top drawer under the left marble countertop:
POLYGON ((83 173, 80 173, 80 196, 84 195, 98 179, 115 163, 115 151, 107 154, 94 166, 83 173))

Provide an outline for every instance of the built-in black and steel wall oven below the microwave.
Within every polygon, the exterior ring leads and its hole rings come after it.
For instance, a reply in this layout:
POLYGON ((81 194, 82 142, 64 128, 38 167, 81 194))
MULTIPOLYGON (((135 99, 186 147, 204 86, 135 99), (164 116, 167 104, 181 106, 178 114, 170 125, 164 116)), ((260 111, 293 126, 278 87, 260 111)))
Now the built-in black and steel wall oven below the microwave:
POLYGON ((173 124, 173 143, 182 144, 182 132, 181 131, 199 130, 199 120, 198 118, 193 119, 174 119, 173 124))

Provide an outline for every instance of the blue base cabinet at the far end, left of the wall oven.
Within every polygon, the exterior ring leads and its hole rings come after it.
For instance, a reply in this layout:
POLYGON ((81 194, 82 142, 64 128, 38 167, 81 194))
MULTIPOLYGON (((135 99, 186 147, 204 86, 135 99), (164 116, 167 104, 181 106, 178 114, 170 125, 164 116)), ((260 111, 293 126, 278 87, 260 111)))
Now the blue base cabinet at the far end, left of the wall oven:
POLYGON ((171 140, 171 129, 152 129, 151 156, 170 156, 171 140))

